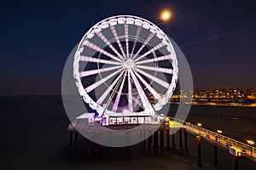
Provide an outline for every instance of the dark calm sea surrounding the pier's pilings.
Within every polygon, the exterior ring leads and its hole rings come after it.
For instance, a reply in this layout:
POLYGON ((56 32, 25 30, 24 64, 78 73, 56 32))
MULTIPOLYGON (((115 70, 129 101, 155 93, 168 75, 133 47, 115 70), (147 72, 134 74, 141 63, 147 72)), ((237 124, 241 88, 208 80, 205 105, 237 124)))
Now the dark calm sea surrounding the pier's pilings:
MULTIPOLYGON (((177 105, 173 105, 177 108, 177 105)), ((113 148, 111 156, 88 152, 86 139, 79 136, 73 156, 69 156, 70 123, 62 105, 61 96, 3 96, 0 97, 1 169, 233 169, 233 158, 227 150, 218 149, 218 167, 212 165, 212 145, 203 142, 202 167, 197 167, 196 139, 189 135, 189 153, 176 149, 148 152, 142 144, 113 148)), ((201 122, 202 127, 241 142, 256 141, 256 108, 235 106, 192 105, 187 122, 201 122)), ((87 141, 88 142, 88 141, 87 141)), ((101 148, 108 150, 107 147, 101 148)), ((240 169, 256 169, 256 164, 239 160, 240 169)))

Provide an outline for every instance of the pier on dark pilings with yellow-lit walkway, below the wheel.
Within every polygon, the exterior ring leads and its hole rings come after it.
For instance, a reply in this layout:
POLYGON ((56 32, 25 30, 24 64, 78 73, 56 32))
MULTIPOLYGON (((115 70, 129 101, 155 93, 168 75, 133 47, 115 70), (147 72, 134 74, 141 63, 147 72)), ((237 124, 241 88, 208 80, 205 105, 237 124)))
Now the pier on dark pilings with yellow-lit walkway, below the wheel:
MULTIPOLYGON (((179 149, 184 154, 189 153, 189 141, 188 141, 188 133, 195 137, 196 139, 196 147, 197 147, 197 166, 202 167, 202 141, 207 142, 208 144, 212 144, 212 163, 214 166, 218 166, 218 149, 226 150, 230 153, 230 156, 233 159, 233 169, 239 169, 239 160, 247 159, 248 161, 256 162, 256 148, 252 145, 242 143, 235 139, 230 139, 220 133, 212 132, 206 128, 197 126, 195 124, 191 124, 189 122, 184 122, 183 120, 168 117, 170 121, 164 122, 160 128, 153 133, 153 135, 149 136, 147 139, 143 140, 143 149, 145 151, 169 151, 171 149, 179 149), (175 133, 177 132, 177 133, 175 133), (178 139, 178 143, 175 142, 175 137, 178 139)), ((137 129, 140 131, 141 136, 145 135, 146 133, 152 132, 155 126, 159 125, 141 125, 137 129)), ((109 129, 120 130, 120 129, 129 129, 137 127, 136 125, 132 126, 110 126, 109 129)), ((86 131, 96 132, 95 127, 87 127, 86 131)), ((71 123, 67 127, 67 132, 70 133, 70 145, 69 151, 70 155, 73 154, 74 145, 78 142, 78 135, 79 132, 73 127, 71 123), (73 138, 74 136, 74 138, 73 138)), ((108 133, 111 136, 110 131, 98 133, 98 137, 102 133, 108 133)), ((127 140, 130 139, 127 136, 127 140)), ((88 140, 90 141, 90 140, 88 140)), ((99 152, 99 144, 93 144, 93 142, 88 143, 88 147, 91 150, 96 150, 99 152)), ((131 154, 131 146, 127 147, 128 153, 131 154)), ((111 154, 112 148, 109 147, 109 154, 111 154)))

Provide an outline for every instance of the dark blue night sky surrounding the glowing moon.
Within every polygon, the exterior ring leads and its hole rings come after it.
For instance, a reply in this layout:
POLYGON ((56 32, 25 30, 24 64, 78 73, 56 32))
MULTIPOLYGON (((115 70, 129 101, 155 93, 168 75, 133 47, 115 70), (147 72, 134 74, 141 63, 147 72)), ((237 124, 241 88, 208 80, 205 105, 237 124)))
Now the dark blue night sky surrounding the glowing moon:
POLYGON ((255 8, 254 1, 231 0, 1 1, 0 95, 61 94, 74 46, 117 14, 159 24, 183 50, 195 88, 256 88, 255 8), (173 17, 160 24, 163 8, 173 17))

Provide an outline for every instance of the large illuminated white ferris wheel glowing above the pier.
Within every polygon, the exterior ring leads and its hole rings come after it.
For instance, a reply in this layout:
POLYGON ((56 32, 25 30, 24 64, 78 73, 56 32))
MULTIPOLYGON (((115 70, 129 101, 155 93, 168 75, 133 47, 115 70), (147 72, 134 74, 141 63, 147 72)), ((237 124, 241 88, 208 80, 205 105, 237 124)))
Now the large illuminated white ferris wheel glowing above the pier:
POLYGON ((73 61, 79 94, 98 117, 124 111, 156 116, 176 88, 177 73, 170 39, 152 22, 131 15, 92 26, 73 61))

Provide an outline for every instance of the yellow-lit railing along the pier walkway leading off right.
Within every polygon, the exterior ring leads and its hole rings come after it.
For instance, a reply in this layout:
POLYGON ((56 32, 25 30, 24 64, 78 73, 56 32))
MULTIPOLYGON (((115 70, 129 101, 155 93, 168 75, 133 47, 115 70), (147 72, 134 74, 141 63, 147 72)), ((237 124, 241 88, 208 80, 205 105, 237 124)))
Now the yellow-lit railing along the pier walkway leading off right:
MULTIPOLYGON (((170 119, 173 120, 174 122, 180 123, 181 125, 186 125, 187 124, 187 122, 185 122, 183 120, 180 120, 180 119, 177 119, 177 118, 174 118, 174 117, 170 117, 170 119)), ((236 146, 236 147, 241 149, 241 153, 245 153, 247 155, 256 157, 256 148, 253 147, 252 145, 244 144, 244 143, 242 143, 240 141, 237 141, 235 139, 230 139, 229 137, 226 137, 222 134, 215 133, 215 132, 212 132, 210 130, 207 130, 206 128, 196 126, 195 124, 189 124, 185 127, 187 127, 187 128, 189 127, 190 128, 189 130, 192 130, 193 132, 198 131, 199 134, 205 135, 205 136, 203 136, 204 138, 207 138, 207 139, 215 141, 215 142, 218 141, 218 140, 222 140, 222 143, 221 143, 222 145, 224 145, 224 143, 225 143, 226 147, 236 146)))

